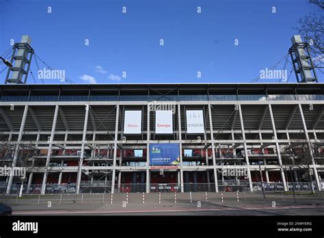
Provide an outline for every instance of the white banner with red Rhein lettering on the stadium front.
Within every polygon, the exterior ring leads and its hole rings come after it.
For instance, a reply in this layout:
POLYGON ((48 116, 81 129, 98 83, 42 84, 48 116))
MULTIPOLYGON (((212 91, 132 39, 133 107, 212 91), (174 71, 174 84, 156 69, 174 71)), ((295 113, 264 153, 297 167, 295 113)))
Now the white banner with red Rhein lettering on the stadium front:
POLYGON ((125 111, 124 134, 141 133, 141 111, 125 111))

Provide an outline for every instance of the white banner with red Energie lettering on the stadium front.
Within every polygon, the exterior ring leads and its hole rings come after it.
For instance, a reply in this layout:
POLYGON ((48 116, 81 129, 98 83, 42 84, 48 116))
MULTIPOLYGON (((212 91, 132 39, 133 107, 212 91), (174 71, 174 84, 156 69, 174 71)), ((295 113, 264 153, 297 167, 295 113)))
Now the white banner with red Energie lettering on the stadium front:
POLYGON ((156 134, 172 134, 173 120, 172 111, 159 110, 155 111, 155 133, 156 134))

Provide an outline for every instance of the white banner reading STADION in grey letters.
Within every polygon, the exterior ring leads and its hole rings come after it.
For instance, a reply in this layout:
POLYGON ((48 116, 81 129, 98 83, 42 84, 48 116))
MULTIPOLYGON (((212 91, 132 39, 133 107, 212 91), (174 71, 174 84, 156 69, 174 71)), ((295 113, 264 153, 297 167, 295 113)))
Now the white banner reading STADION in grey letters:
POLYGON ((187 133, 204 133, 204 115, 202 110, 187 110, 187 133))

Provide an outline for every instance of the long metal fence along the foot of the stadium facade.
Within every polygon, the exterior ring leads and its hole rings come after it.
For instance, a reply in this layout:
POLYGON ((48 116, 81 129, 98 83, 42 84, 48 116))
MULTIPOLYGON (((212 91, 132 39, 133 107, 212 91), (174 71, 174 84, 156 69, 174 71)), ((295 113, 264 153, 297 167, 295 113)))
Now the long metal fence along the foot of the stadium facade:
MULTIPOLYGON (((262 183, 252 183, 253 191, 262 191, 262 183)), ((284 185, 282 183, 263 183, 265 191, 284 191, 284 185)), ((29 186, 27 191, 27 185, 23 185, 22 194, 40 194, 42 185, 36 184, 29 186)), ((316 182, 313 182, 314 191, 318 191, 316 182)), ((7 187, 0 185, 0 194, 5 194, 7 187)), ((248 181, 237 180, 224 180, 218 181, 219 191, 249 191, 248 181)), ((301 183, 288 183, 288 191, 312 191, 310 182, 301 183)), ((214 191, 215 183, 184 183, 183 190, 185 192, 199 192, 199 191, 214 191)), ((19 194, 21 191, 21 185, 12 185, 10 194, 19 194)), ((120 186, 115 185, 115 192, 146 192, 146 183, 122 183, 120 186)), ((150 192, 180 192, 181 186, 178 183, 151 183, 150 192)), ((75 183, 67 185, 51 184, 46 185, 45 194, 75 194, 75 183)), ((94 183, 82 182, 80 184, 81 194, 105 194, 111 193, 111 183, 105 181, 96 181, 94 183)))

